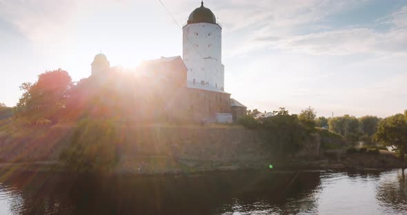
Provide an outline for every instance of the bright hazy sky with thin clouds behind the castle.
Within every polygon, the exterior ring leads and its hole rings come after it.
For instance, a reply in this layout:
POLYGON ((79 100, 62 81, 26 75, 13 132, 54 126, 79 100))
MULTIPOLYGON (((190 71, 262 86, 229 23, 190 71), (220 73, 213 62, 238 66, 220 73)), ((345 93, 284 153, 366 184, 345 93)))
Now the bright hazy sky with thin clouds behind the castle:
MULTIPOLYGON (((178 25, 199 0, 161 0, 178 25)), ((407 0, 206 0, 222 25, 225 90, 249 110, 390 116, 407 109, 407 0)), ((0 103, 62 68, 182 56, 182 32, 159 1, 0 0, 0 103)))

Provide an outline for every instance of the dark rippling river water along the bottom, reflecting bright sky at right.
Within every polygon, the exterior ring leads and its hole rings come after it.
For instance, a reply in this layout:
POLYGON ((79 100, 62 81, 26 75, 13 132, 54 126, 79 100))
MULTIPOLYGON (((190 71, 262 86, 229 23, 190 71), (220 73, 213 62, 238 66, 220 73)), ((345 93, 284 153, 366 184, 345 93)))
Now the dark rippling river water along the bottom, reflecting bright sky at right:
POLYGON ((401 170, 0 178, 0 214, 407 214, 401 170))

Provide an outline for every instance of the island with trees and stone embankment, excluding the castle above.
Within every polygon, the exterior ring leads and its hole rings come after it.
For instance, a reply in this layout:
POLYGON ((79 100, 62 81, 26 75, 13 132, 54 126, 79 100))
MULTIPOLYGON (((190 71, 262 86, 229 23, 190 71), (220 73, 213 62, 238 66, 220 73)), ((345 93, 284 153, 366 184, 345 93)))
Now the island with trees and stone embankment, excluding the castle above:
POLYGON ((92 76, 74 82, 59 69, 23 83, 15 107, 0 104, 2 167, 131 174, 405 167, 407 111, 326 118, 312 107, 299 114, 280 107, 259 119, 248 111, 228 125, 138 121, 129 116, 143 103, 127 76, 117 79, 120 88, 92 76))

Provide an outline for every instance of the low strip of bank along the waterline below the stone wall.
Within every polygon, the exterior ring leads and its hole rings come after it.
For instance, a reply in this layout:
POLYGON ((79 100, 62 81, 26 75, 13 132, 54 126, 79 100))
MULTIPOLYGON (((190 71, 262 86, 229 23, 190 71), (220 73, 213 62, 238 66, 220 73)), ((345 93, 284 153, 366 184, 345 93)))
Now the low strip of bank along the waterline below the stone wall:
MULTIPOLYGON (((169 156, 139 156, 122 160, 109 173, 112 175, 193 176, 203 172, 231 170, 270 170, 272 172, 307 172, 315 170, 391 170, 401 168, 403 163, 392 153, 344 154, 339 159, 290 159, 287 161, 257 161, 253 163, 219 164, 213 161, 194 161, 169 156), (272 168, 270 168, 272 165, 272 168)), ((67 172, 59 161, 35 161, 24 163, 0 163, 1 172, 67 172)))

